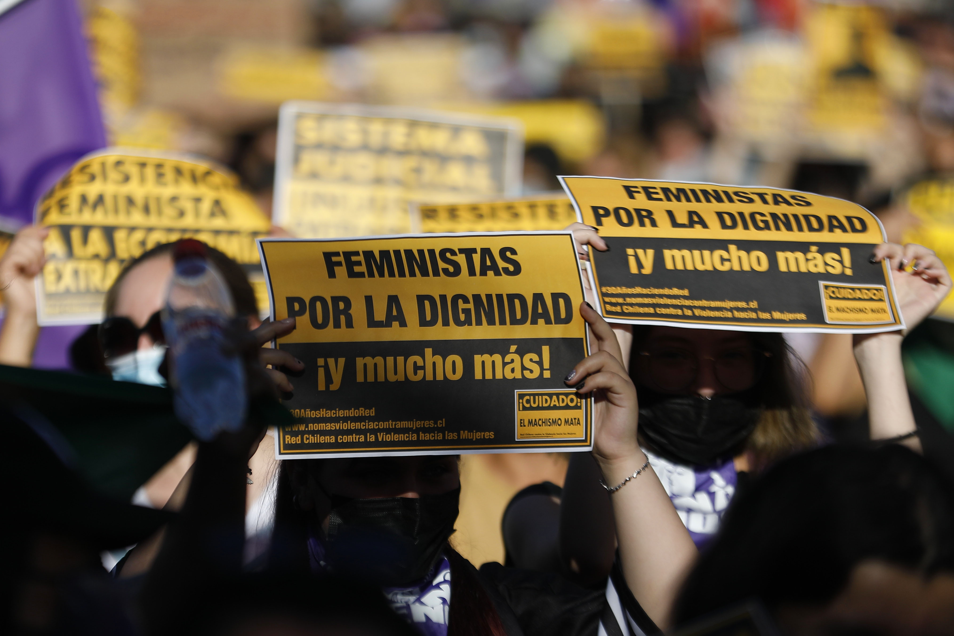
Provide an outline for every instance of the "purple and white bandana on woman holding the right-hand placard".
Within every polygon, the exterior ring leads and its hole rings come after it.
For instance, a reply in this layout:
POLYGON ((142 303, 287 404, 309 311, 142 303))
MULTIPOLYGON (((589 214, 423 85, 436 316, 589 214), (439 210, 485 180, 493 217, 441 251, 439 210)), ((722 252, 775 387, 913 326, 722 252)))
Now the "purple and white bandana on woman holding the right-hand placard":
MULTIPOLYGON (((645 452, 645 451, 644 451, 645 452)), ((647 452, 650 464, 686 524, 695 546, 716 537, 725 509, 736 494, 736 463, 730 458, 712 466, 683 466, 647 452)))

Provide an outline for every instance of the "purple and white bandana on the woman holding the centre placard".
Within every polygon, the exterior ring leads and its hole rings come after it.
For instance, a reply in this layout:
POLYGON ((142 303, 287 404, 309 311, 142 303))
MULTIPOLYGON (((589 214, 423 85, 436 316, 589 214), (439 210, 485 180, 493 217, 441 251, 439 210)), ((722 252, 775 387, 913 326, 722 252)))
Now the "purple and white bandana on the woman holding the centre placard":
MULTIPOLYGON (((324 572, 324 544, 314 530, 308 532, 308 561, 313 574, 324 572)), ((447 636, 450 615, 450 562, 445 557, 431 574, 414 585, 384 587, 391 609, 424 636, 447 636)))

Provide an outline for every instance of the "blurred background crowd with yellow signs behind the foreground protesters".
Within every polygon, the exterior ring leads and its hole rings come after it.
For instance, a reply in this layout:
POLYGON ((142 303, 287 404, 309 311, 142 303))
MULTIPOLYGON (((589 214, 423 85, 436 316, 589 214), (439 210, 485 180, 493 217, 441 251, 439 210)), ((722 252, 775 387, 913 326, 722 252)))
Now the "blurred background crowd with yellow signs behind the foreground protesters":
MULTIPOLYGON (((923 243, 954 265, 950 0, 84 0, 80 8, 108 143, 212 157, 266 214, 282 102, 401 105, 520 119, 524 195, 559 190, 557 174, 793 188, 858 202, 881 217, 889 241, 923 243)), ((954 330, 945 316, 954 309, 905 343, 905 371, 919 426, 954 459, 954 330)), ((866 438, 851 337, 790 343, 812 372, 827 435, 866 438)), ((274 462, 270 443, 250 464, 257 474, 274 462)), ((137 502, 161 507, 193 457, 177 456, 137 502)), ((529 484, 562 485, 566 466, 557 455, 467 456, 463 479, 481 488, 462 499, 460 552, 475 564, 503 562, 504 507, 529 484)), ((269 483, 250 486, 249 507, 269 483)))

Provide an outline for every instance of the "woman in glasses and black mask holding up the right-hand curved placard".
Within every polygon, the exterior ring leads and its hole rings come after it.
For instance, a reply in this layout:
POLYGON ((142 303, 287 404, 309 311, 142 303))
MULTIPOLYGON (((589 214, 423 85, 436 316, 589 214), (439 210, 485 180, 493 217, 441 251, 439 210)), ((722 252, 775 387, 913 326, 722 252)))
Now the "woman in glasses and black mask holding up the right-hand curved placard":
MULTIPOLYGON (((605 248, 590 228, 572 229, 578 242, 605 248)), ((920 245, 881 244, 872 262, 885 257, 912 329, 946 296, 950 277, 920 245)), ((920 449, 904 388, 902 338, 902 332, 856 336, 855 355, 872 439, 902 438, 920 449)), ((716 536, 722 513, 750 475, 819 443, 797 361, 780 334, 633 330, 629 370, 639 394, 639 443, 699 549, 716 536)), ((602 585, 615 549, 610 499, 593 485, 596 476, 588 456, 574 455, 560 510, 560 556, 584 585, 602 585)))

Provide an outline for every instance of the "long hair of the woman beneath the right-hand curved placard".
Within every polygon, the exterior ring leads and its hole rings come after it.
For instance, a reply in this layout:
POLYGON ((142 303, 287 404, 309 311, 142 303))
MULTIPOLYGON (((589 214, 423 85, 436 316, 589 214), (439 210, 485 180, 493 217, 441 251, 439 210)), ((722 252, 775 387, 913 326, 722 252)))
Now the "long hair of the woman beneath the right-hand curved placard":
MULTIPOLYGON (((630 375, 636 382, 636 364, 652 326, 633 327, 633 349, 630 375)), ((753 343, 771 356, 758 381, 757 390, 763 407, 756 429, 749 435, 744 450, 762 470, 783 457, 818 444, 819 428, 808 409, 807 370, 798 355, 781 334, 746 333, 753 343)))

